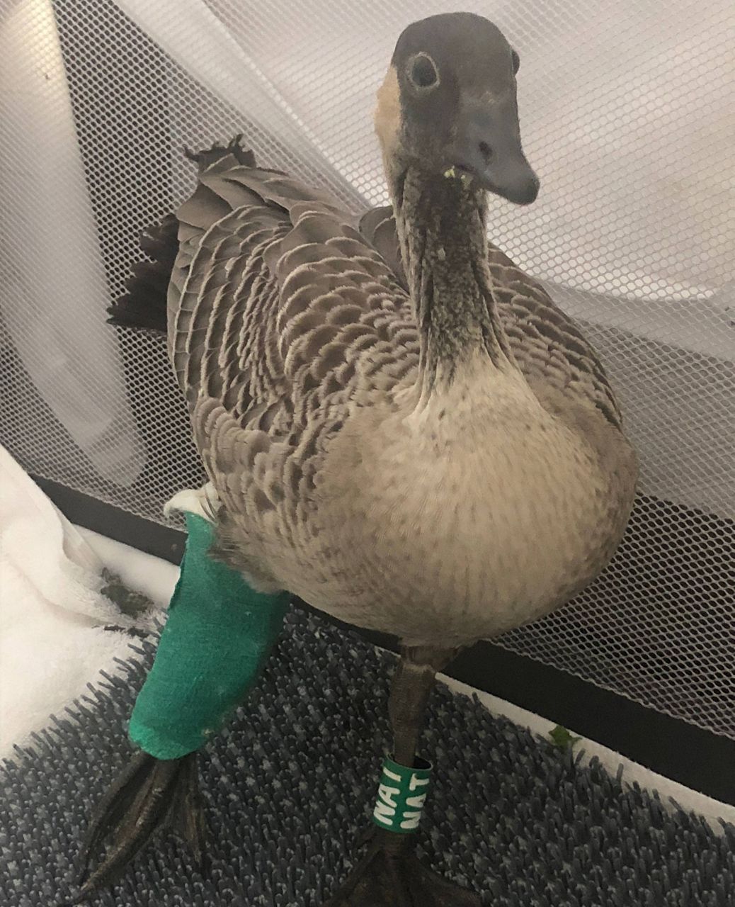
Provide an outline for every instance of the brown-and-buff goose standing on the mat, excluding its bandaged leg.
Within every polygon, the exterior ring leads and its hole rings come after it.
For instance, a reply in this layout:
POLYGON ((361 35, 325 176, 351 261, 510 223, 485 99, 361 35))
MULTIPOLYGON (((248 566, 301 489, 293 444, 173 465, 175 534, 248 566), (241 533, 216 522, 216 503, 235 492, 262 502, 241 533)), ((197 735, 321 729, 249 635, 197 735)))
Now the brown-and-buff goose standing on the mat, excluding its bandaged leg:
MULTIPOLYGON (((400 640, 404 766, 436 672, 583 589, 633 500, 595 351, 488 245, 488 192, 537 197, 517 69, 479 16, 411 24, 375 112, 392 208, 355 219, 233 142, 198 155, 168 258, 169 353, 220 551, 257 590, 400 640)), ((117 314, 156 320, 132 298, 117 314)), ((411 841, 377 830, 330 903, 479 903, 411 841)))

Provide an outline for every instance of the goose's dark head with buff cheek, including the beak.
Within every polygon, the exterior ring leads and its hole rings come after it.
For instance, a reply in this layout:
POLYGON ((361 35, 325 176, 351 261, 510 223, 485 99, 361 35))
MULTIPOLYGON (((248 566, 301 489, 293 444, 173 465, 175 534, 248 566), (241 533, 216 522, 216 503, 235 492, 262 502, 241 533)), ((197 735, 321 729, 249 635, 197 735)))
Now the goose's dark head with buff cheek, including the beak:
POLYGON ((375 110, 389 175, 414 166, 519 205, 536 200, 538 178, 518 125, 518 63, 502 32, 482 16, 448 13, 409 25, 375 110))

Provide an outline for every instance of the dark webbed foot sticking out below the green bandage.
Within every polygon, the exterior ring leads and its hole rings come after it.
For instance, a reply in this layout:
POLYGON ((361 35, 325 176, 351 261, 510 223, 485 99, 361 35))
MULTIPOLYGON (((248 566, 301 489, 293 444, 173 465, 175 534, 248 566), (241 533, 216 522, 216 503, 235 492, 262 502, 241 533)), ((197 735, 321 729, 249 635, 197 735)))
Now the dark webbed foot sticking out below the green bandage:
POLYGON ((189 844, 204 868, 207 826, 198 785, 197 756, 156 759, 138 753, 97 805, 82 844, 80 889, 72 903, 120 880, 128 863, 160 829, 169 828, 189 844), (93 872, 92 860, 110 841, 93 872))

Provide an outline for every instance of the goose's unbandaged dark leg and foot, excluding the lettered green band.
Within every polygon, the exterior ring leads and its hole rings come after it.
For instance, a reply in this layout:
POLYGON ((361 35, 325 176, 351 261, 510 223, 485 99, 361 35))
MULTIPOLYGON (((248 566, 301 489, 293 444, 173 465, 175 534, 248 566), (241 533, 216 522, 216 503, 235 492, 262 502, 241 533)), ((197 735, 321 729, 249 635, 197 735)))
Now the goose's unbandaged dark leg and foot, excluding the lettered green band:
MULTIPOLYGON (((436 673, 456 654, 454 649, 403 650, 388 704, 393 758, 402 766, 415 763, 421 721, 436 673)), ((414 839, 414 834, 375 827, 363 858, 325 907, 479 907, 477 894, 419 862, 414 839)))

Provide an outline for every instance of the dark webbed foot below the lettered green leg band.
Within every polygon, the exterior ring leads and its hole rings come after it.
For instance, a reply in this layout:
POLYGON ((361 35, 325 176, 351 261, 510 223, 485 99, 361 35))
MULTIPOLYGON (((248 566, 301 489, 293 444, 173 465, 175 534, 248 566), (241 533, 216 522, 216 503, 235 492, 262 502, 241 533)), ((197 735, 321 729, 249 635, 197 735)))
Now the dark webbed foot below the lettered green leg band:
POLYGON ((480 907, 479 895, 422 866, 410 837, 378 832, 324 907, 480 907))

